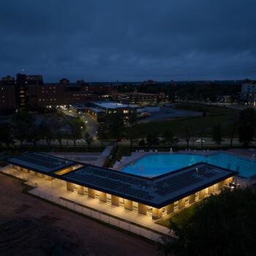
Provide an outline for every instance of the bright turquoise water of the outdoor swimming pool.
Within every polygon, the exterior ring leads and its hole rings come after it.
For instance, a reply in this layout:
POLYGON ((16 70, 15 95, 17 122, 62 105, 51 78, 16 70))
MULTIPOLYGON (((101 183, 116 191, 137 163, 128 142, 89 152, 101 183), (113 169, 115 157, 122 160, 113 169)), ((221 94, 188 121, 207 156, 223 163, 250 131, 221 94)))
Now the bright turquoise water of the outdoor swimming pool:
POLYGON ((135 162, 135 165, 124 167, 121 171, 139 176, 159 176, 197 162, 208 162, 211 165, 237 170, 244 177, 256 174, 256 162, 222 153, 210 157, 195 154, 151 154, 135 162))

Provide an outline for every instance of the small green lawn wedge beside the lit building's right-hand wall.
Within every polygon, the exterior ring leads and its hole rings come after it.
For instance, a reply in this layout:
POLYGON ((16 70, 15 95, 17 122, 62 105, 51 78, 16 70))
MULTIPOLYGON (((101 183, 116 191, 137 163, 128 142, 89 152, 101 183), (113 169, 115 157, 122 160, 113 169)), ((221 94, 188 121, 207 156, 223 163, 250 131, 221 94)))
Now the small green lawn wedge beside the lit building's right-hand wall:
POLYGON ((170 219, 176 223, 184 222, 185 219, 191 217, 194 214, 195 209, 200 205, 200 203, 202 203, 202 201, 194 203, 192 206, 188 206, 183 210, 178 211, 176 214, 172 214, 169 217, 160 219, 156 223, 165 227, 169 227, 170 219))

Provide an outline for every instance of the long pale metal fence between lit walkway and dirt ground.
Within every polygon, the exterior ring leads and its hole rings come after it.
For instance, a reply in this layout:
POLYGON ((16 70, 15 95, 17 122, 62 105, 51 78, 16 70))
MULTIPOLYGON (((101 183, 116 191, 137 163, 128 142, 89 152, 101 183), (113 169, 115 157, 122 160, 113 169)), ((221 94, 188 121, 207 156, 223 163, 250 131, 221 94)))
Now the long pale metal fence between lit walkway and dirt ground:
POLYGON ((79 213, 84 214, 86 216, 92 217, 94 219, 99 219, 102 222, 108 223, 116 227, 120 227, 121 229, 127 230, 131 233, 135 233, 137 235, 143 236, 153 241, 160 241, 161 235, 159 235, 158 233, 154 233, 151 230, 147 230, 143 227, 139 227, 130 222, 126 222, 120 219, 116 219, 114 217, 110 217, 109 215, 103 214, 100 211, 91 210, 84 206, 78 205, 78 203, 73 203, 68 200, 61 199, 60 197, 56 197, 54 195, 49 195, 47 193, 40 192, 39 190, 32 190, 30 193, 37 195, 38 197, 42 197, 46 200, 50 200, 53 203, 57 203, 61 206, 72 209, 74 211, 78 211, 79 213))

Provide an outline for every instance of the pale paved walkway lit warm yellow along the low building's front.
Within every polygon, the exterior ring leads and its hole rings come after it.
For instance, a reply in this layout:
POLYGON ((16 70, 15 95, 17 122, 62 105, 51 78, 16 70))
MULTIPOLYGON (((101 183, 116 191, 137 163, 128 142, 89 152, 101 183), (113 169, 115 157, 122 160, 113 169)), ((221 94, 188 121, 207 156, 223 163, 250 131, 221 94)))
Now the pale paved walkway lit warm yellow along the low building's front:
POLYGON ((99 201, 98 199, 93 199, 90 197, 86 197, 85 195, 80 195, 75 192, 67 191, 66 181, 61 181, 58 179, 48 181, 45 178, 39 178, 29 173, 23 173, 21 171, 10 168, 7 170, 7 173, 10 173, 11 175, 17 176, 19 178, 29 179, 30 182, 37 183, 38 187, 32 189, 30 191, 31 193, 33 193, 34 191, 38 191, 48 195, 53 195, 55 197, 65 197, 69 200, 83 204, 84 206, 89 206, 96 210, 111 214, 121 219, 126 219, 129 222, 134 222, 144 227, 149 227, 152 230, 157 230, 158 232, 165 234, 169 233, 167 227, 156 224, 156 220, 152 219, 151 217, 143 214, 137 214, 134 211, 129 211, 122 207, 112 206, 108 203, 99 201))

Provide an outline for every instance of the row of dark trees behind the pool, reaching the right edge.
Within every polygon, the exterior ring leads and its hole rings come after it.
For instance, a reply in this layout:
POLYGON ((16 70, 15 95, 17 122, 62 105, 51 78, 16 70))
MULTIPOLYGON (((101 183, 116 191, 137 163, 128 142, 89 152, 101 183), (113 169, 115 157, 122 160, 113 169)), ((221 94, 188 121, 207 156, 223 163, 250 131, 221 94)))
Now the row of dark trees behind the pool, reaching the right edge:
MULTIPOLYGON (((160 125, 160 124, 159 124, 160 125)), ((233 146, 233 140, 237 137, 243 146, 248 147, 255 139, 256 130, 256 112, 252 108, 246 108, 242 110, 239 117, 233 119, 227 125, 228 134, 230 138, 230 146, 233 146)), ((159 129, 160 130, 160 129, 159 129)), ((208 132, 208 131, 207 131, 208 132)), ((224 128, 222 124, 215 124, 210 130, 211 139, 216 145, 221 145, 224 136, 224 128)), ((176 146, 179 140, 185 140, 187 146, 192 143, 194 146, 195 138, 200 138, 199 143, 203 147, 203 138, 206 135, 206 129, 195 131, 193 123, 188 122, 184 127, 181 127, 179 136, 175 136, 170 129, 162 130, 158 134, 152 133, 148 129, 146 138, 141 138, 140 125, 137 124, 137 120, 134 119, 129 124, 124 124, 124 117, 118 114, 105 116, 104 120, 99 124, 97 129, 97 138, 102 142, 105 140, 116 140, 116 146, 121 139, 129 140, 132 147, 135 143, 138 143, 141 147, 151 146, 176 146)))

